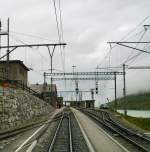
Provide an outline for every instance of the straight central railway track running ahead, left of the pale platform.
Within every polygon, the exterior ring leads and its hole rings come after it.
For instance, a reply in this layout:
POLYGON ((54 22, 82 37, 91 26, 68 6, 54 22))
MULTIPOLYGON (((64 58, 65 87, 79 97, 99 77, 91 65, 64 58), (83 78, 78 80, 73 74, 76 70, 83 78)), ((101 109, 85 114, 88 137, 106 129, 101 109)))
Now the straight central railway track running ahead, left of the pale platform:
POLYGON ((48 152, 89 152, 82 132, 70 110, 62 114, 48 152))

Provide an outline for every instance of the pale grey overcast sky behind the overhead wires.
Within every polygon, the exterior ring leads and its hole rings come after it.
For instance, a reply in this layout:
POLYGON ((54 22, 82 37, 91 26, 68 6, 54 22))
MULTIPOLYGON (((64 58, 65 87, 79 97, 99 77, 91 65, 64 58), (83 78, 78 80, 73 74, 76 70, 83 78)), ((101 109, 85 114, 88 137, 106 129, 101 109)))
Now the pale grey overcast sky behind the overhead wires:
MULTIPOLYGON (((56 0, 56 5, 58 8, 58 0, 56 0)), ((119 41, 144 18, 150 15, 150 1, 61 0, 61 9, 64 40, 67 46, 65 51, 63 50, 65 52, 63 54, 61 54, 59 47, 56 48, 53 58, 54 68, 63 69, 62 58, 64 59, 65 57, 66 71, 71 71, 72 65, 77 66, 77 71, 94 71, 97 65, 108 64, 108 58, 103 60, 109 51, 109 45, 106 42, 119 41)), ((10 18, 11 44, 22 44, 21 41, 27 44, 58 43, 52 0, 1 1, 0 16, 3 21, 4 30, 7 18, 10 18), (32 37, 19 33, 32 35, 32 37), (39 38, 33 36, 38 36, 39 38)), ((144 23, 149 24, 150 19, 147 18, 144 23)), ((136 33, 140 30, 143 30, 142 24, 134 32, 136 33)), ((133 37, 131 40, 139 40, 141 35, 138 36, 133 37)), ((147 34, 146 41, 150 40, 148 36, 147 34)), ((124 50, 122 47, 114 48, 111 53, 110 63, 112 65, 122 64, 122 61, 131 53, 131 55, 137 53, 131 51, 124 50)), ((1 52, 2 54, 4 54, 4 51, 1 52)), ((43 70, 50 68, 50 60, 46 48, 17 49, 11 55, 11 59, 23 60, 28 67, 34 69, 34 71, 29 73, 30 83, 42 83, 43 70)), ((147 54, 142 55, 134 64, 148 65, 149 59, 150 57, 147 54)), ((129 72, 127 75, 128 93, 149 90, 149 74, 148 71, 129 72), (136 77, 137 75, 138 78, 136 77)), ((120 81, 118 82, 118 95, 122 94, 122 82, 120 81)), ((106 84, 106 82, 102 83, 101 86, 105 88, 103 89, 103 93, 101 93, 104 96, 104 100, 109 96, 113 98, 113 95, 110 95, 112 94, 110 92, 113 91, 108 89, 112 86, 109 83, 106 84), (109 87, 107 88, 107 86, 109 87)), ((86 90, 88 89, 86 88, 86 90)))

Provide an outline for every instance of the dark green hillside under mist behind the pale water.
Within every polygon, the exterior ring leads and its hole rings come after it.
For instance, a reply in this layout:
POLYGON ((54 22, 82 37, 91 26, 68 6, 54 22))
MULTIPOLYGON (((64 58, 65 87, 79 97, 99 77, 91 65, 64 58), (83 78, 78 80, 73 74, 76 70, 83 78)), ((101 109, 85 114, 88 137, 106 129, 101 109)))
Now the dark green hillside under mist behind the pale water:
MULTIPOLYGON (((110 108, 114 107, 114 101, 109 103, 110 108)), ((126 107, 130 110, 150 110, 150 93, 140 93, 126 97, 126 107)), ((124 108, 123 98, 117 99, 117 109, 124 108)))

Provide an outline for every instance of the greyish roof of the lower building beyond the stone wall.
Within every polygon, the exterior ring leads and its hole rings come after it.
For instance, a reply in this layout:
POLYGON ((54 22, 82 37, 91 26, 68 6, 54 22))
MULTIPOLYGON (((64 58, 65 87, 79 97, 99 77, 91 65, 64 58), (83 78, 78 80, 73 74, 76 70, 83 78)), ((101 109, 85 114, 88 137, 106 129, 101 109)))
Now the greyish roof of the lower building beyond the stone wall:
MULTIPOLYGON (((43 84, 31 84, 30 88, 38 93, 42 93, 42 92, 49 92, 51 85, 46 84, 44 86, 43 84)), ((57 92, 56 84, 52 84, 52 92, 57 92)))

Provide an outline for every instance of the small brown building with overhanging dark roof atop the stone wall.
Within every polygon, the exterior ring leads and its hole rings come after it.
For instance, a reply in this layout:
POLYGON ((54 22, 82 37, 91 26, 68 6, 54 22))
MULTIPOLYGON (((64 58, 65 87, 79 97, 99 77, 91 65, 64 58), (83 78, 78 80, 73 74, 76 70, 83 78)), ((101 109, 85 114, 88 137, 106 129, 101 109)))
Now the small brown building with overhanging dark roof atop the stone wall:
MULTIPOLYGON (((7 62, 0 61, 0 76, 7 78, 7 62)), ((9 61, 9 80, 17 80, 25 85, 28 81, 28 71, 29 69, 20 60, 10 60, 9 61)))

